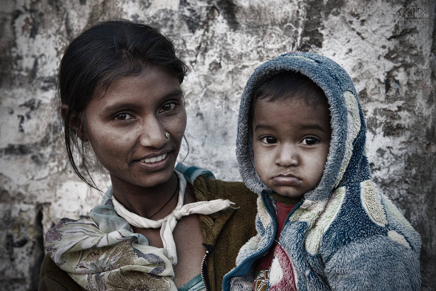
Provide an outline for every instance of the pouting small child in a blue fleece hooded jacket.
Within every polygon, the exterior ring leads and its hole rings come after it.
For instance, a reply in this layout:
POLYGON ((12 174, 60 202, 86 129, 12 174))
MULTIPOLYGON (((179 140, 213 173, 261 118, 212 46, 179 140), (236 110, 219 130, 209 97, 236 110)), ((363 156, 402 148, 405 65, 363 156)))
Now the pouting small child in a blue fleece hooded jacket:
POLYGON ((371 180, 366 125, 350 76, 288 52, 242 94, 237 156, 259 194, 258 235, 222 290, 420 290, 421 239, 371 180))

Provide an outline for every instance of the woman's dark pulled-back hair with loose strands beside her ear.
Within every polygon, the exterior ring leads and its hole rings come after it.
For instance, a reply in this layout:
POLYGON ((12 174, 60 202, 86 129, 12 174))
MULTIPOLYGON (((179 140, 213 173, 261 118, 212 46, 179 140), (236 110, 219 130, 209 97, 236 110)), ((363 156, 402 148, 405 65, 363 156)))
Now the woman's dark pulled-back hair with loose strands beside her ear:
POLYGON ((86 28, 65 50, 57 91, 60 105, 68 105, 63 125, 65 145, 74 172, 92 188, 97 189, 86 163, 84 143, 70 127, 71 116, 78 117, 83 128, 83 111, 96 90, 107 90, 116 77, 139 75, 145 66, 163 69, 179 83, 187 74, 187 66, 180 59, 173 39, 158 28, 124 19, 86 28), (82 159, 79 166, 75 163, 74 147, 82 159))

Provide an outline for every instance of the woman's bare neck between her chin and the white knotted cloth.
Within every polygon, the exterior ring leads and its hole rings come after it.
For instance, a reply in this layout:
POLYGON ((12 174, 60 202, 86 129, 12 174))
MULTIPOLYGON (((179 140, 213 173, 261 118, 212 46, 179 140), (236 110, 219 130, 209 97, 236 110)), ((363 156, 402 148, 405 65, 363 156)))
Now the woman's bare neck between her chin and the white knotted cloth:
POLYGON ((158 211, 153 215, 153 219, 158 220, 166 217, 176 208, 178 193, 174 197, 173 194, 177 189, 178 180, 174 172, 167 182, 153 187, 133 185, 112 175, 111 181, 116 200, 127 210, 137 215, 149 218, 158 211), (169 202, 167 203, 167 201, 169 202), (165 203, 167 205, 162 208, 165 203), (159 211, 160 208, 162 210, 159 211))

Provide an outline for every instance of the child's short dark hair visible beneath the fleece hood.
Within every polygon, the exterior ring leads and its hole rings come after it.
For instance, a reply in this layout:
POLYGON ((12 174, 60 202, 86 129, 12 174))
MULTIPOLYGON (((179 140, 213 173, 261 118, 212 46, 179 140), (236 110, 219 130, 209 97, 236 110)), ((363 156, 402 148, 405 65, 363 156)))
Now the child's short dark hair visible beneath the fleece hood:
POLYGON ((294 71, 283 71, 267 78, 253 92, 249 116, 253 117, 258 99, 268 98, 268 101, 274 101, 295 97, 304 99, 308 105, 325 104, 328 107, 324 91, 309 77, 294 71))

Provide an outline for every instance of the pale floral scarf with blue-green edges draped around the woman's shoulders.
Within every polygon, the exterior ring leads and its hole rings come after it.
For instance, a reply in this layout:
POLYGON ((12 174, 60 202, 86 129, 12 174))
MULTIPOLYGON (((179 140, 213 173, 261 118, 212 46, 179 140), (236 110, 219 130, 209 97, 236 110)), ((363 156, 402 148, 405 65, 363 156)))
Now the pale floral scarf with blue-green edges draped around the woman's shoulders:
MULTIPOLYGON (((191 183, 200 175, 215 178, 197 167, 179 164, 176 169, 191 183)), ((101 205, 87 216, 62 218, 48 230, 48 255, 88 291, 177 291, 167 251, 149 246, 145 236, 133 233, 113 208, 112 194, 109 187, 101 205)))

